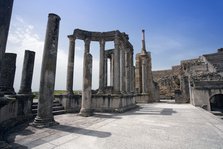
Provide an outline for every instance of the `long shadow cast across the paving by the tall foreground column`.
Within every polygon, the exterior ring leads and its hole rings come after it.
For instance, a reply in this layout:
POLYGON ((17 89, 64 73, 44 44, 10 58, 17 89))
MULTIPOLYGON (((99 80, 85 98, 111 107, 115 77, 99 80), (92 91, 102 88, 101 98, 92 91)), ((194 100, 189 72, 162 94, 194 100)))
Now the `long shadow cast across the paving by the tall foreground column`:
POLYGON ((110 132, 90 130, 90 129, 78 128, 78 127, 73 127, 73 126, 68 126, 68 125, 53 126, 53 127, 50 127, 49 129, 56 129, 60 131, 76 133, 76 134, 81 134, 81 135, 88 135, 88 136, 93 136, 93 137, 98 137, 98 138, 107 138, 111 136, 110 132))

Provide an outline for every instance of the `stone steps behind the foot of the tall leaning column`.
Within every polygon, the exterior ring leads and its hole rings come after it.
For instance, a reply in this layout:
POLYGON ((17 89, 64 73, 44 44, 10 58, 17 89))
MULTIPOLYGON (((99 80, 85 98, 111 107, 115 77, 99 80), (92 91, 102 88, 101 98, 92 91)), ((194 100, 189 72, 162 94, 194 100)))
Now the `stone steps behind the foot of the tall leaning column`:
MULTIPOLYGON (((33 117, 37 115, 37 107, 38 107, 38 101, 34 100, 32 104, 33 117)), ((59 101, 53 101, 53 115, 60 115, 64 113, 66 113, 66 110, 64 110, 62 104, 59 103, 59 101)))

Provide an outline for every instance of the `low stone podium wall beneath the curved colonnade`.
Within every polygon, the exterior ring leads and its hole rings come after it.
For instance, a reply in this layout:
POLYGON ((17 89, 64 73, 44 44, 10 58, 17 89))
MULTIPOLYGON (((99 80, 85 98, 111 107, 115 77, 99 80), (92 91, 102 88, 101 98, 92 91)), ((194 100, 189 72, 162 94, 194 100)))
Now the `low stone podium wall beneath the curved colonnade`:
MULTIPOLYGON (((92 94, 91 109, 98 112, 124 112, 136 107, 136 96, 118 94, 92 94)), ((81 95, 56 95, 66 112, 79 112, 81 109, 81 95)))

